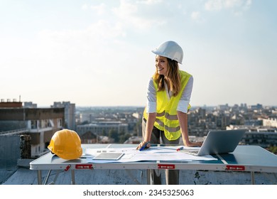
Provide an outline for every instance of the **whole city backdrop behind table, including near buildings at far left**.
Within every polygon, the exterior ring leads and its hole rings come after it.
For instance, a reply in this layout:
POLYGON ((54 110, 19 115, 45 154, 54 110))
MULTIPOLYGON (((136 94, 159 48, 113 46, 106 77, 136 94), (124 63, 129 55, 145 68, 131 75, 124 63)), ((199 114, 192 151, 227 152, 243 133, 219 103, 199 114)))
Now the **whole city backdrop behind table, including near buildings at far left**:
MULTIPOLYGON (((60 129, 76 131, 82 144, 139 144, 143 110, 144 107, 78 107, 71 102, 38 107, 33 102, 2 99, 0 171, 16 169, 18 158, 36 159, 47 154, 51 137, 60 129)), ((191 141, 204 141, 209 131, 228 129, 246 129, 241 145, 258 145, 277 154, 276 106, 219 104, 192 107, 188 112, 191 141)))

